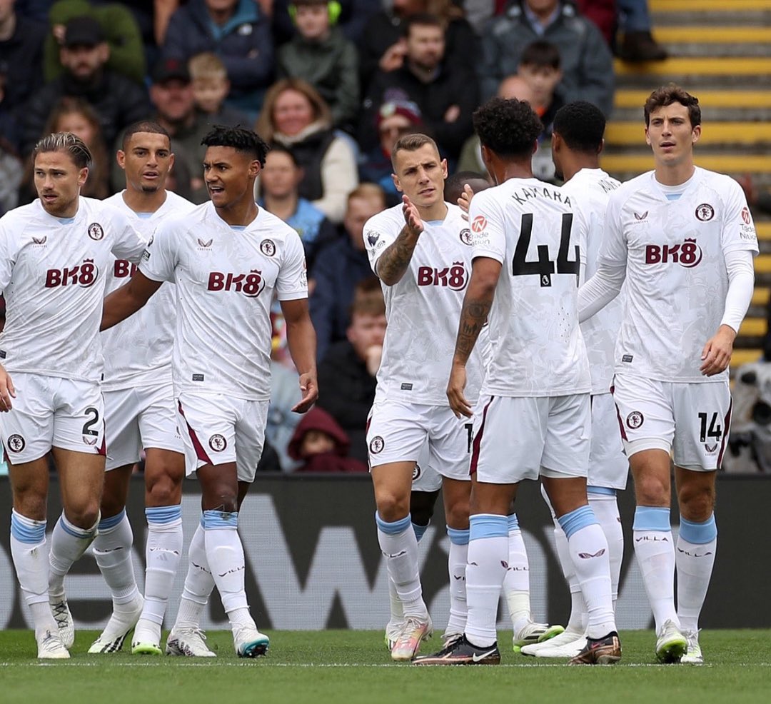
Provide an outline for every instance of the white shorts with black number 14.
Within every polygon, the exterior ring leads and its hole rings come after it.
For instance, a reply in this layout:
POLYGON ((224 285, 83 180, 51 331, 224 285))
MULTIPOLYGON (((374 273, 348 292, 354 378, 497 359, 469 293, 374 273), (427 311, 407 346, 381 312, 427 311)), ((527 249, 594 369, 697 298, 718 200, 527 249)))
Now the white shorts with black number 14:
POLYGON ((617 374, 611 390, 628 455, 665 450, 686 470, 720 468, 731 426, 727 380, 673 383, 617 374))

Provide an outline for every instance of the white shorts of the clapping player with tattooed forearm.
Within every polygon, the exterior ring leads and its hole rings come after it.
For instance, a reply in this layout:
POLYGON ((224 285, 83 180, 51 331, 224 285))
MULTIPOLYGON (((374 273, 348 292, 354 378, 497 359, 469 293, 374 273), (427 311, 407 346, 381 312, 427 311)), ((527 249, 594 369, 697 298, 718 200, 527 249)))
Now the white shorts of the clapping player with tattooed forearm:
POLYGON ((449 406, 389 400, 376 400, 372 404, 367 421, 370 467, 423 461, 421 450, 426 441, 426 467, 433 467, 449 479, 470 479, 471 423, 468 419, 457 419, 449 406))

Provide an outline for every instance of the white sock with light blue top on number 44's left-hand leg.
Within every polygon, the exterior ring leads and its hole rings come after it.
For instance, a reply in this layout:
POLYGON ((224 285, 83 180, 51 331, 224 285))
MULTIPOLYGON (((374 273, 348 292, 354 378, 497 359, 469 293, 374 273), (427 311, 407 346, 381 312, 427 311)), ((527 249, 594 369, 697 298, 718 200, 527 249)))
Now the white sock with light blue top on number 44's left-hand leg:
POLYGON ((466 637, 480 648, 497 642, 498 601, 508 570, 509 527, 506 516, 470 517, 469 562, 466 565, 466 637))

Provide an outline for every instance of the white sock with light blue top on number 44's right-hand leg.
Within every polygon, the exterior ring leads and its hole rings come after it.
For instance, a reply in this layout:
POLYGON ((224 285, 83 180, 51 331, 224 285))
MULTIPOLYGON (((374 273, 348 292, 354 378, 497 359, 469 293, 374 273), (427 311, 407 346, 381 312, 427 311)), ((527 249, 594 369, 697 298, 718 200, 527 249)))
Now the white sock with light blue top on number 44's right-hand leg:
POLYGON ((588 612, 586 635, 602 638, 616 630, 611 598, 608 541, 590 506, 581 506, 559 519, 588 612))

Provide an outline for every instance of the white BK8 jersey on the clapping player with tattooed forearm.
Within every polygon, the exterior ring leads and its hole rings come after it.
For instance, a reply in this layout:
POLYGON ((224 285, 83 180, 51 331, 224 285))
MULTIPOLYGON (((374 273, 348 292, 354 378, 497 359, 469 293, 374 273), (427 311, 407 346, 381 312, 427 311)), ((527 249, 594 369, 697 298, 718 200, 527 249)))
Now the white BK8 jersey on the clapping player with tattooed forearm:
MULTIPOLYGON (((447 204, 443 221, 425 225, 402 280, 382 285, 388 326, 377 390, 388 399, 446 406, 460 309, 471 275, 471 237, 463 211, 453 204, 447 204)), ((366 222, 364 244, 375 273, 380 255, 404 226, 401 205, 366 222)), ((480 340, 466 366, 466 398, 472 403, 482 382, 483 346, 480 340)))

